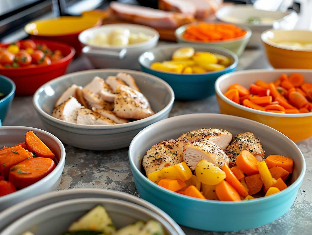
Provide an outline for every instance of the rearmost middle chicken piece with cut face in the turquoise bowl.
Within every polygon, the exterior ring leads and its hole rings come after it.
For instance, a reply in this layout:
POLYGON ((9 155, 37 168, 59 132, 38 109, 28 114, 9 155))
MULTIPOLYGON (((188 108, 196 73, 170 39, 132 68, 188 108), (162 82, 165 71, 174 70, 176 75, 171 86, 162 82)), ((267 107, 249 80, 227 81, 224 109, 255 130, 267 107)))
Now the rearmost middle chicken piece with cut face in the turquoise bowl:
POLYGON ((217 144, 220 149, 225 149, 232 140, 232 134, 227 130, 223 129, 206 129, 201 128, 198 130, 191 130, 186 134, 181 135, 179 138, 186 138, 190 141, 197 139, 207 139, 211 140, 213 143, 217 144))

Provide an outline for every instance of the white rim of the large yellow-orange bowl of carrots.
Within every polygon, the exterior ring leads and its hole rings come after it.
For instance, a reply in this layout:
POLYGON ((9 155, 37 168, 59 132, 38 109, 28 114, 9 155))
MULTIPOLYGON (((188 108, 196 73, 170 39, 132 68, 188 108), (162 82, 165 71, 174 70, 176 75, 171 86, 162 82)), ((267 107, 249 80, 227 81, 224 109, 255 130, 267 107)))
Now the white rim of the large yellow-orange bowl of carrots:
POLYGON ((250 70, 244 70, 244 71, 235 71, 232 73, 224 74, 216 80, 216 82, 215 82, 216 94, 223 101, 225 101, 227 104, 232 105, 235 108, 238 108, 238 109, 241 109, 241 110, 244 110, 247 112, 255 113, 255 114, 261 114, 261 115, 273 116, 273 117, 310 117, 310 116, 312 116, 312 112, 289 114, 289 113, 272 113, 272 112, 266 112, 266 111, 251 109, 251 108, 248 108, 244 105, 237 104, 232 100, 229 100, 227 97, 225 97, 225 95, 220 90, 220 83, 232 75, 253 74, 253 73, 262 73, 263 74, 263 73, 272 73, 272 72, 280 72, 280 74, 288 73, 288 72, 289 73, 310 72, 312 75, 312 70, 310 70, 310 69, 274 69, 274 70, 272 70, 272 69, 250 69, 250 70))

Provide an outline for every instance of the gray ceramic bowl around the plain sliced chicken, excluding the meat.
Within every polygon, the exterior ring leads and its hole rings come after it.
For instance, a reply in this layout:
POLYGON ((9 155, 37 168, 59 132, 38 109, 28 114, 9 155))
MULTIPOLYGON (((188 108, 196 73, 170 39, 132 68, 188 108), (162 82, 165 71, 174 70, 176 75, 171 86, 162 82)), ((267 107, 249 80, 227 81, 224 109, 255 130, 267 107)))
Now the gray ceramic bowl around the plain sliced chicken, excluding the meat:
POLYGON ((63 143, 91 150, 120 149, 129 146, 140 130, 168 117, 174 101, 172 88, 153 75, 122 69, 95 69, 66 74, 41 86, 33 97, 33 105, 46 129, 63 143), (134 77, 141 92, 149 99, 155 114, 141 120, 117 125, 81 125, 51 116, 58 97, 72 84, 85 86, 94 76, 106 78, 118 72, 134 77))

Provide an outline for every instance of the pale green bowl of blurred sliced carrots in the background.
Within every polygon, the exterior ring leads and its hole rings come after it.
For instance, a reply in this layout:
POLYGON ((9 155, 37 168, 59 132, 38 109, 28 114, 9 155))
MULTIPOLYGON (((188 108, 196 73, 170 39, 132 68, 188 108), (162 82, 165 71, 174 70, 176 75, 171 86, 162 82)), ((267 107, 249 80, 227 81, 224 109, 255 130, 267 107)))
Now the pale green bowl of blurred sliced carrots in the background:
POLYGON ((223 47, 240 56, 251 37, 246 26, 222 22, 196 22, 183 25, 174 32, 178 42, 200 43, 223 47))

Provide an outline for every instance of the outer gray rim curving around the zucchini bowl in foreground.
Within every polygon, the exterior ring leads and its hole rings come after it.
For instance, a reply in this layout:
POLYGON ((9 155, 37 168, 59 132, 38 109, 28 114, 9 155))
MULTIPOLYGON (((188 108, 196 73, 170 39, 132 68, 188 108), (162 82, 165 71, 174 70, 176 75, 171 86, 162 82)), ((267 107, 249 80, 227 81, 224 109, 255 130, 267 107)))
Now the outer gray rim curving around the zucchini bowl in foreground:
POLYGON ((45 193, 43 195, 18 203, 0 213, 0 231, 12 222, 16 221, 18 218, 21 218, 23 215, 26 215, 34 210, 53 203, 76 198, 112 198, 125 202, 135 203, 158 214, 160 217, 165 219, 178 232, 178 234, 185 235, 183 230, 170 216, 168 216, 168 214, 154 206, 152 203, 149 203, 142 198, 138 198, 128 193, 96 188, 77 188, 45 193))

